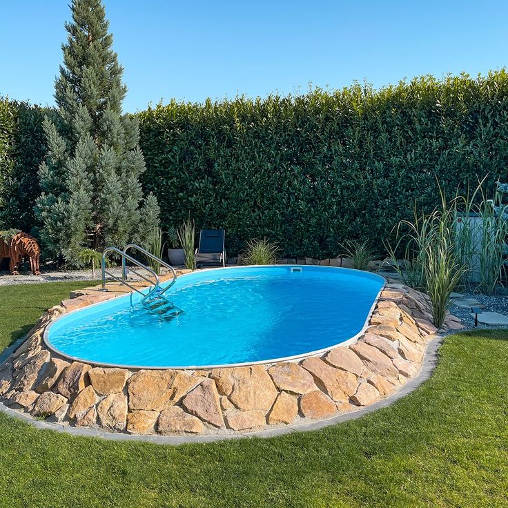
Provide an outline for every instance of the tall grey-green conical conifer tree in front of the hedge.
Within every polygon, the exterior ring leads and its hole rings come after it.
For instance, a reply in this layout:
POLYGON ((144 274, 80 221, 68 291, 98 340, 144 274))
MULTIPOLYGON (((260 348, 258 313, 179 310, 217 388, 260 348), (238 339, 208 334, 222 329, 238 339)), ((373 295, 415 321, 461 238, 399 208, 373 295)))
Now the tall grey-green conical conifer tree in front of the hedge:
POLYGON ((159 225, 159 206, 151 194, 143 201, 139 128, 122 114, 127 89, 104 6, 72 0, 71 9, 55 82, 58 114, 43 124, 48 153, 35 212, 48 253, 77 265, 84 248, 144 242, 159 225))

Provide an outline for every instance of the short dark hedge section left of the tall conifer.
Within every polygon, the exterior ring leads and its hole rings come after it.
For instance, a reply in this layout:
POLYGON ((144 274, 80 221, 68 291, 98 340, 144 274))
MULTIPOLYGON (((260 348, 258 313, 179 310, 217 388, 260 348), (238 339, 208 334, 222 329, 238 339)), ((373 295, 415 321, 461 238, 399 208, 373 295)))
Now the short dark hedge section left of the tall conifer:
POLYGON ((35 226, 41 193, 37 170, 46 152, 42 121, 48 108, 0 97, 0 229, 35 226))

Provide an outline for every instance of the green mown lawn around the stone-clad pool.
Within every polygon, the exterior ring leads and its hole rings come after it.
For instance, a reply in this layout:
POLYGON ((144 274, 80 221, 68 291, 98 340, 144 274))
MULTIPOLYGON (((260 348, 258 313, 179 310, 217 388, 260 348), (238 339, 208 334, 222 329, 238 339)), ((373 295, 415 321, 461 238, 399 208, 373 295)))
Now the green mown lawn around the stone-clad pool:
MULTIPOLYGON (((72 286, 0 288, 0 344, 72 286)), ((507 507, 507 336, 449 337, 393 406, 279 438, 107 442, 0 415, 0 507, 507 507)))

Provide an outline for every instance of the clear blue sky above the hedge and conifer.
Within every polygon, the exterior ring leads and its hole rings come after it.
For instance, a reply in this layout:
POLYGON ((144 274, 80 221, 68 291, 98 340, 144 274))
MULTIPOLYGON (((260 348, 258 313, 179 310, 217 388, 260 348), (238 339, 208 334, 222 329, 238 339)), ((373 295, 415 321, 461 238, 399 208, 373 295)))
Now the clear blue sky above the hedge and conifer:
MULTIPOLYGON (((0 95, 54 104, 68 0, 0 0, 0 95)), ((124 110, 508 65, 506 0, 106 0, 124 110)))

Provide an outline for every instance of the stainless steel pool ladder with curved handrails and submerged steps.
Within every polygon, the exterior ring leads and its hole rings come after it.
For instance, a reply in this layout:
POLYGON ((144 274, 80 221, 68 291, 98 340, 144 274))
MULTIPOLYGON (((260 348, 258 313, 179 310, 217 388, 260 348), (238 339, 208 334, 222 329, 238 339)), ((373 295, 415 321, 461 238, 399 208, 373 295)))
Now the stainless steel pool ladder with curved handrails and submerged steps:
MULTIPOLYGON (((175 317, 182 313, 181 309, 178 309, 177 306, 173 304, 173 302, 170 302, 165 296, 164 293, 170 289, 173 284, 175 284, 177 280, 177 273, 175 271, 175 268, 173 266, 170 266, 166 262, 159 259, 159 257, 153 255, 152 253, 146 251, 146 249, 140 247, 136 244, 128 244, 123 251, 121 251, 119 248, 116 247, 108 247, 104 249, 104 252, 102 253, 102 262, 101 262, 101 271, 102 271, 102 289, 101 291, 108 291, 106 289, 106 275, 111 277, 113 280, 116 280, 117 282, 120 282, 121 284, 124 284, 129 289, 132 289, 133 291, 136 291, 136 293, 139 293, 142 295, 141 297, 141 305, 143 305, 148 311, 151 313, 161 315, 162 317, 175 317), (155 262, 161 264, 162 266, 168 268, 173 273, 173 280, 166 286, 164 289, 160 286, 160 280, 159 275, 155 273, 155 271, 152 270, 152 268, 149 268, 145 264, 141 263, 140 261, 136 260, 134 257, 127 254, 127 251, 129 249, 135 249, 136 251, 139 251, 140 253, 144 254, 147 257, 150 257, 155 262), (106 270, 106 256, 108 253, 114 252, 118 254, 121 257, 121 278, 117 277, 110 271, 106 270), (146 272, 148 272, 149 275, 153 277, 153 280, 150 280, 148 277, 143 275, 142 273, 136 273, 138 277, 141 277, 141 279, 145 280, 146 282, 153 284, 153 286, 150 288, 148 293, 143 293, 142 291, 139 291, 135 286, 132 284, 129 284, 127 280, 127 267, 126 267, 126 261, 129 261, 136 266, 139 266, 139 268, 143 268, 146 272)), ((133 293, 130 293, 130 300, 132 302, 132 295, 133 293)))

